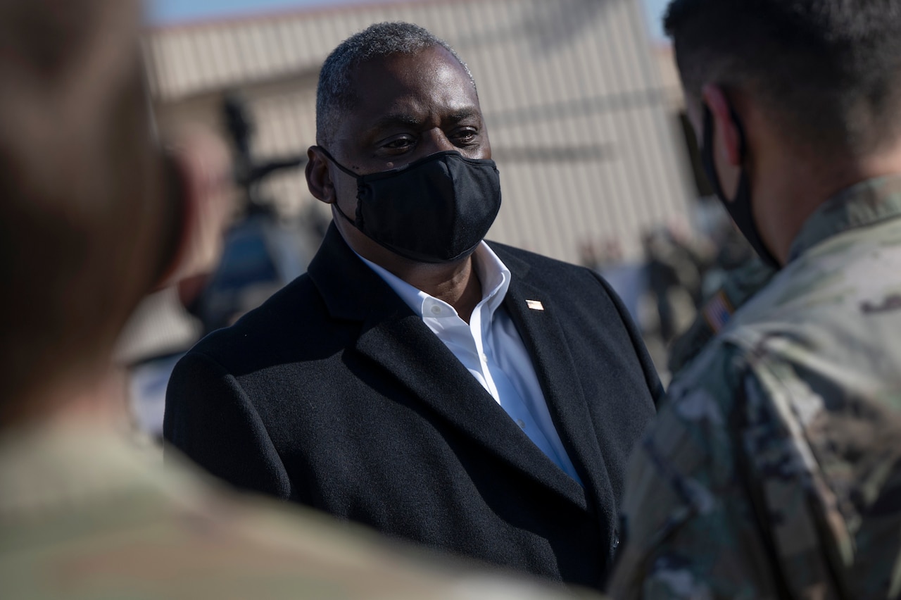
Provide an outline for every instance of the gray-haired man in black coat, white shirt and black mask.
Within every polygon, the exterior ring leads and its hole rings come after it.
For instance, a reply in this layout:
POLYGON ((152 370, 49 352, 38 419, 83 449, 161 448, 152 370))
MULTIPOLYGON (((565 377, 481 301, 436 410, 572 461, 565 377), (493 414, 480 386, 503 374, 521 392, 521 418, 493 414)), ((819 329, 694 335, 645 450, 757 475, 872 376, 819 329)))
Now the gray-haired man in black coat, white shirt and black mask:
POLYGON ((342 42, 317 143, 322 248, 178 363, 166 437, 236 486, 601 586, 661 392, 623 306, 586 268, 482 241, 497 171, 469 69, 431 33, 342 42))

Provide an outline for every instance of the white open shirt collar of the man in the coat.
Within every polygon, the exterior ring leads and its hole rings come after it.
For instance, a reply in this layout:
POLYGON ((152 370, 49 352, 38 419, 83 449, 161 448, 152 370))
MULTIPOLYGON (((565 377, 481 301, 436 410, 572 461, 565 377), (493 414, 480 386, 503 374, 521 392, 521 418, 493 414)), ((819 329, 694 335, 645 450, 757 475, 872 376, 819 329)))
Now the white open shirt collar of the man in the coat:
MULTIPOLYGON (((476 269, 476 275, 482 284, 482 301, 479 304, 487 303, 490 313, 494 314, 497 307, 504 302, 507 289, 510 287, 510 269, 506 268, 494 250, 491 250, 484 241, 478 244, 476 251, 473 252, 473 258, 475 259, 473 268, 476 269)), ((441 300, 432 297, 432 295, 426 294, 422 290, 406 283, 386 268, 379 267, 371 260, 364 259, 361 256, 359 256, 359 259, 375 271, 376 275, 381 277, 400 296, 405 305, 409 306, 420 317, 424 314, 423 305, 426 301, 441 302, 441 300)), ((456 314, 456 311, 454 314, 456 314)))

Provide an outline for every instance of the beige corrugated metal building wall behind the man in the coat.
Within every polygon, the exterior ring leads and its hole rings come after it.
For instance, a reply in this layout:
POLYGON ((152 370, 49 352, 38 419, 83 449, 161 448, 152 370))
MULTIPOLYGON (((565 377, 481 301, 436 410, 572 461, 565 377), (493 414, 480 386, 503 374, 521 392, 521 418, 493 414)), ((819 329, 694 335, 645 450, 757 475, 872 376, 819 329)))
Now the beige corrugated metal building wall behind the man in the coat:
MULTIPOLYGON (((476 77, 504 190, 492 239, 570 261, 583 241, 617 239, 636 258, 641 232, 686 214, 683 147, 638 0, 423 1, 157 30, 147 44, 160 120, 218 110, 235 88, 260 155, 304 153, 323 59, 394 20, 449 41, 476 77)), ((319 205, 301 173, 266 191, 288 214, 319 205)))

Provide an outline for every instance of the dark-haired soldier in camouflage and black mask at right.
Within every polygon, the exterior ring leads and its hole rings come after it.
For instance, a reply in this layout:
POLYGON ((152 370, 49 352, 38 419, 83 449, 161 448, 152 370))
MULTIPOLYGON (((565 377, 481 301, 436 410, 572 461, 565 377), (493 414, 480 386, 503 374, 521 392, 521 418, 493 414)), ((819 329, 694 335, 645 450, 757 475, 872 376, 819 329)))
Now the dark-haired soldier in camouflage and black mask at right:
POLYGON ((901 10, 675 0, 667 29, 717 195, 781 270, 636 448, 611 595, 899 597, 901 10))

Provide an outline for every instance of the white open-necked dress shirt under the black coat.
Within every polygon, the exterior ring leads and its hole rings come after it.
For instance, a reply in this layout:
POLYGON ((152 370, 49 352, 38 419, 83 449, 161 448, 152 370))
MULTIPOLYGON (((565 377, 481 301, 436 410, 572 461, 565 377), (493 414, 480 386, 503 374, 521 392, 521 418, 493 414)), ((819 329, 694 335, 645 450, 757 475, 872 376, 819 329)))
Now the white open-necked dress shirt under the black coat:
POLYGON ((510 270, 484 241, 473 256, 473 266, 482 284, 482 300, 472 311, 469 324, 443 300, 416 289, 367 259, 360 259, 423 318, 423 323, 460 359, 529 439, 581 485, 551 420, 523 339, 510 315, 498 310, 510 286, 510 270))

